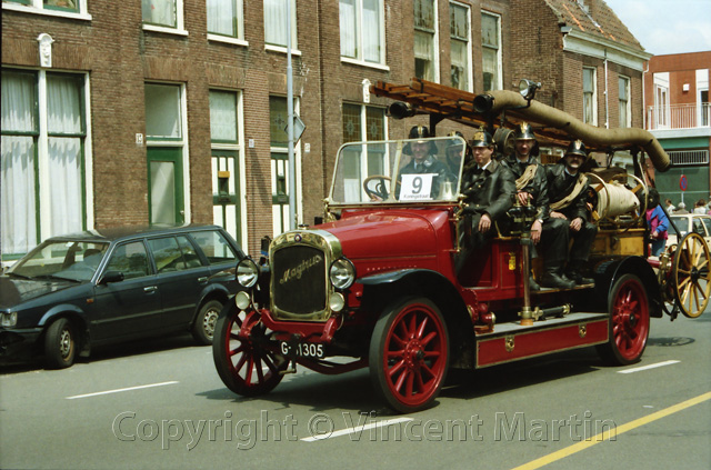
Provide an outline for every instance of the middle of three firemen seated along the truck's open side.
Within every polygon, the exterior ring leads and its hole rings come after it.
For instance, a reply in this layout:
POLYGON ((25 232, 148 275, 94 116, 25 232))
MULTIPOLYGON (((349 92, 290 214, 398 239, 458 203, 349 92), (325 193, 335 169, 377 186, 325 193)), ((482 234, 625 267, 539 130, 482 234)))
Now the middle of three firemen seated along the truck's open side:
MULTIPOLYGON (((515 178, 517 199, 522 206, 535 209, 535 220, 531 224, 531 241, 543 254, 543 276, 540 284, 547 288, 571 289, 575 282, 565 278, 563 268, 568 259, 568 223, 550 217, 548 178, 539 162, 538 141, 531 124, 521 122, 513 132, 515 152, 502 161, 515 178)), ((531 277, 531 290, 539 284, 531 277)))

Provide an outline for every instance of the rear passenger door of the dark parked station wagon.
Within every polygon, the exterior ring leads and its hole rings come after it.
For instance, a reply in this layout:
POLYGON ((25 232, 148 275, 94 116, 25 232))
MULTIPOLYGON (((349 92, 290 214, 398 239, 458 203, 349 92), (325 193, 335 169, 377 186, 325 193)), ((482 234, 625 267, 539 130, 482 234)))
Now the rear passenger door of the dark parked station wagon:
POLYGON ((168 329, 188 326, 208 283, 208 267, 184 234, 151 238, 148 247, 158 273, 163 326, 168 329))

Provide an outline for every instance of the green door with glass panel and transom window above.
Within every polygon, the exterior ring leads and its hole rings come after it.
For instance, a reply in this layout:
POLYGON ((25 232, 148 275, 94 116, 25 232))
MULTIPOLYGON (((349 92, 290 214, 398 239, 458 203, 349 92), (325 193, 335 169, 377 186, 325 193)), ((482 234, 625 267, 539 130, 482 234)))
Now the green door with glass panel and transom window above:
POLYGON ((183 223, 184 119, 182 88, 146 83, 149 222, 183 223))

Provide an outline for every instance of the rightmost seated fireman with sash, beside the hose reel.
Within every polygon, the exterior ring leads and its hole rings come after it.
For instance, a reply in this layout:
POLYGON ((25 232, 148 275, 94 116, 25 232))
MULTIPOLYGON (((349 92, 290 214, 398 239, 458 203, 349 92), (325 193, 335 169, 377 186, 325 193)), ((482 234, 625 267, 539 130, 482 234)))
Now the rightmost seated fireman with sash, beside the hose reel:
POLYGON ((565 277, 577 284, 593 282, 582 273, 598 233, 598 226, 588 220, 585 196, 589 184, 588 178, 581 171, 585 160, 588 160, 585 146, 581 140, 575 140, 568 146, 562 162, 547 168, 550 217, 568 223, 573 246, 568 257, 565 277))

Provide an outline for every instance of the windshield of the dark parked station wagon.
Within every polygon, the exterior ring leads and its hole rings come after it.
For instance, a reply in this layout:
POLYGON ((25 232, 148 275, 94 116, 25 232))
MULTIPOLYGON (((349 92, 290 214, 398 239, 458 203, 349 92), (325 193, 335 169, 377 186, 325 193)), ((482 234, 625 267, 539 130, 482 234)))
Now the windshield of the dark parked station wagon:
POLYGON ((47 240, 20 259, 8 274, 27 279, 90 280, 109 243, 47 240))

